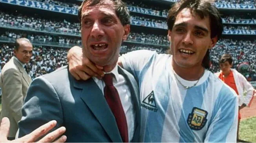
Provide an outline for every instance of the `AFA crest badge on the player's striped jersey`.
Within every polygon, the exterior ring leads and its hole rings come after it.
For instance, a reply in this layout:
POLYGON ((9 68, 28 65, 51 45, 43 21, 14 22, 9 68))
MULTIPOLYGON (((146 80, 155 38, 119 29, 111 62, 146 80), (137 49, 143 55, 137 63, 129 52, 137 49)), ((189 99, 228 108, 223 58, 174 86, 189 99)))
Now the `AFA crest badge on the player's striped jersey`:
POLYGON ((190 129, 201 130, 207 122, 207 114, 207 111, 194 107, 187 119, 190 129))

